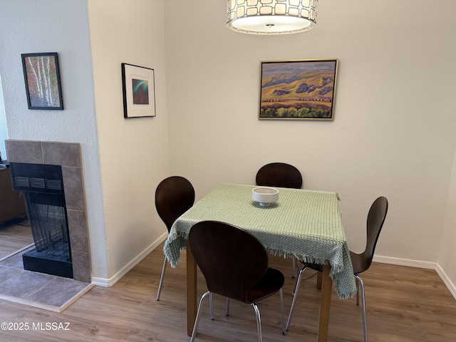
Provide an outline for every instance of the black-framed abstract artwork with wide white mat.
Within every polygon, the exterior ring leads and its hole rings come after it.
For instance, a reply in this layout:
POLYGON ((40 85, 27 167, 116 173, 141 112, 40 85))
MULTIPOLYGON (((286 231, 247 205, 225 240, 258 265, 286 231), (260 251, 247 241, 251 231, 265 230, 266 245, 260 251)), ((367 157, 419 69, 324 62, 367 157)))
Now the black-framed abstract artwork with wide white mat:
POLYGON ((155 116, 154 69, 122 63, 123 116, 155 116))

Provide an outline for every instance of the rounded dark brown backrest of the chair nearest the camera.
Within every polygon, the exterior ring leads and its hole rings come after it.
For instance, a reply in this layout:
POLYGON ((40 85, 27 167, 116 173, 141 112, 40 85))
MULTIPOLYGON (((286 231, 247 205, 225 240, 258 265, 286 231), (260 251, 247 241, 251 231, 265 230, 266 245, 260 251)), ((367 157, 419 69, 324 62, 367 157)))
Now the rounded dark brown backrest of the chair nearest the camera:
POLYGON ((224 222, 203 221, 190 229, 190 248, 214 294, 250 303, 249 289, 268 269, 268 254, 256 237, 224 222))

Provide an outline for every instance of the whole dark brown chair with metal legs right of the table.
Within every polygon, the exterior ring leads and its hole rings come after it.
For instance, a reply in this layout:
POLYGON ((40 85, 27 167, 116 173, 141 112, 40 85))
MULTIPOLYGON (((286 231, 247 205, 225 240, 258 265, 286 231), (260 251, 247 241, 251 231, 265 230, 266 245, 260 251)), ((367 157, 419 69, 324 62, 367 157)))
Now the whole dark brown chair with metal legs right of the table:
MULTIPOLYGON (((363 310, 363 333, 364 341, 368 341, 368 331, 366 324, 366 300, 364 296, 364 284, 359 276, 363 271, 367 271, 372 264, 373 254, 375 252, 375 245, 377 244, 380 231, 385 222, 385 217, 388 212, 388 199, 385 197, 378 197, 375 199, 369 209, 368 219, 367 219, 367 239, 366 239, 366 249, 363 253, 357 254, 350 252, 351 264, 353 265, 353 272, 356 278, 356 284, 358 286, 358 293, 356 294, 356 305, 359 305, 359 290, 361 290, 361 304, 363 310)), ((307 269, 314 269, 315 271, 323 271, 323 266, 319 264, 309 264, 302 262, 304 265, 299 271, 298 279, 296 280, 296 287, 294 289, 294 297, 291 302, 291 309, 288 321, 286 322, 286 330, 290 327, 291 315, 293 314, 294 304, 296 303, 296 297, 298 296, 299 285, 301 284, 302 273, 307 269)))

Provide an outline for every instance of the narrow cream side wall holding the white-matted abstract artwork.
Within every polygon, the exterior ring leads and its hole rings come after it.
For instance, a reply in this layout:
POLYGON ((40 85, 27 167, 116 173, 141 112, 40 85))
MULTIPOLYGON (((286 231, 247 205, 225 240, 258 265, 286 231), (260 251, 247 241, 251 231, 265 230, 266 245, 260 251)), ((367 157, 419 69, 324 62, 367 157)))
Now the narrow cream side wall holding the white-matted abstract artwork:
POLYGON ((154 202, 169 176, 163 10, 163 0, 88 0, 107 247, 98 284, 113 284, 167 236, 154 202), (121 63, 154 69, 155 118, 123 117, 121 63))

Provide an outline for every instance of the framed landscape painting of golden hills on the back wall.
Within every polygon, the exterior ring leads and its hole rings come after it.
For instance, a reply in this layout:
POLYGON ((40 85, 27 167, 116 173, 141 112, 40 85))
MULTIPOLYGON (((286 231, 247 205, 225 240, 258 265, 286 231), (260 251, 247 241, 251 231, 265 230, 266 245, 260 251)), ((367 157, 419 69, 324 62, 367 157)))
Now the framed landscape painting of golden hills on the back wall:
POLYGON ((333 120, 338 59, 261 61, 259 119, 333 120))

